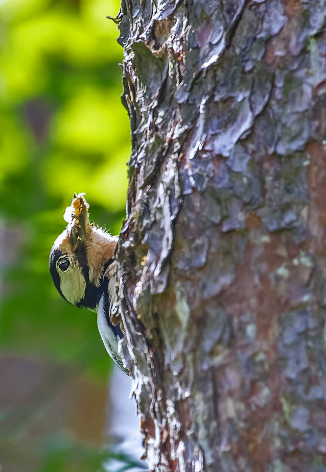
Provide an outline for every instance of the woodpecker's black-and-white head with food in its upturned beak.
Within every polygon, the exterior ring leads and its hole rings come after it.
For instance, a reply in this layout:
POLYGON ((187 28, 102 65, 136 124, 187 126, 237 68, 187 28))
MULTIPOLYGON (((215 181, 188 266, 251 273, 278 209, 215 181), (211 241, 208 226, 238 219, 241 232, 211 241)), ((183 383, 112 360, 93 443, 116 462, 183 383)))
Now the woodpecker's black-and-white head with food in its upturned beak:
POLYGON ((89 222, 89 205, 83 195, 75 193, 65 211, 68 225, 52 246, 50 273, 67 302, 96 309, 103 292, 103 273, 112 262, 117 237, 89 222))

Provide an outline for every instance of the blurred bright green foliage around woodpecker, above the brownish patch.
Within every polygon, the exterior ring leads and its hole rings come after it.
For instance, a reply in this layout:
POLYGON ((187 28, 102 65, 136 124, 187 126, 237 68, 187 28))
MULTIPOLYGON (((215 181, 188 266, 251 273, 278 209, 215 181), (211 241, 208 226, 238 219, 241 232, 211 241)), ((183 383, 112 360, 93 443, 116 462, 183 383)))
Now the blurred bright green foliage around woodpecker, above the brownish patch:
MULTIPOLYGON (((76 364, 103 380, 111 361, 96 315, 61 299, 48 264, 74 192, 86 193, 90 219, 113 234, 125 214, 123 51, 106 18, 119 7, 119 0, 0 2, 0 227, 14 228, 21 241, 0 274, 1 351, 76 364)), ((42 470, 65 470, 56 460, 42 470)))

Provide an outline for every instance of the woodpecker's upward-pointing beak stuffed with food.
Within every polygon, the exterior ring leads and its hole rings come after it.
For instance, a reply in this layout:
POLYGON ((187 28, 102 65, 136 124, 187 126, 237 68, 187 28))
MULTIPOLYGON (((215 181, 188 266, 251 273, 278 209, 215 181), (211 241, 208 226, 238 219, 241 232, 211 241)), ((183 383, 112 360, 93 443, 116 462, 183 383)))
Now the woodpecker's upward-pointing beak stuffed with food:
POLYGON ((84 198, 84 193, 74 193, 70 207, 66 208, 64 219, 67 221, 67 231, 73 251, 86 244, 87 228, 90 226, 88 218, 89 205, 84 198))

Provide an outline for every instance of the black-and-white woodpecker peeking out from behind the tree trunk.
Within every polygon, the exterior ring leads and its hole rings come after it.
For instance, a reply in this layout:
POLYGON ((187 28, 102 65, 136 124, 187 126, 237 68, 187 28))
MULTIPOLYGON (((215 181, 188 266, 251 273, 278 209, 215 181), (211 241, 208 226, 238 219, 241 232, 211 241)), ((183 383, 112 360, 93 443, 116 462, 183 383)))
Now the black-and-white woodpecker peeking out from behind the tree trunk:
POLYGON ((50 253, 50 274, 60 295, 71 305, 97 312, 98 328, 108 354, 128 374, 118 352, 123 338, 120 325, 110 320, 114 297, 112 275, 117 236, 89 222, 84 193, 75 193, 66 208, 66 229, 55 240, 50 253))

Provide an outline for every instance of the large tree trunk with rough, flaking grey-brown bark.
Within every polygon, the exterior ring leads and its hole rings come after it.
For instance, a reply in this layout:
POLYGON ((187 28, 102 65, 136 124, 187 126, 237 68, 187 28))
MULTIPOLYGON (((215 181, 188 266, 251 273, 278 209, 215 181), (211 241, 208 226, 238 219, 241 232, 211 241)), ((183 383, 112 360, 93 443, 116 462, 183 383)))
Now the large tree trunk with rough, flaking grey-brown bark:
POLYGON ((150 468, 325 472, 324 1, 122 10, 117 281, 150 468))

